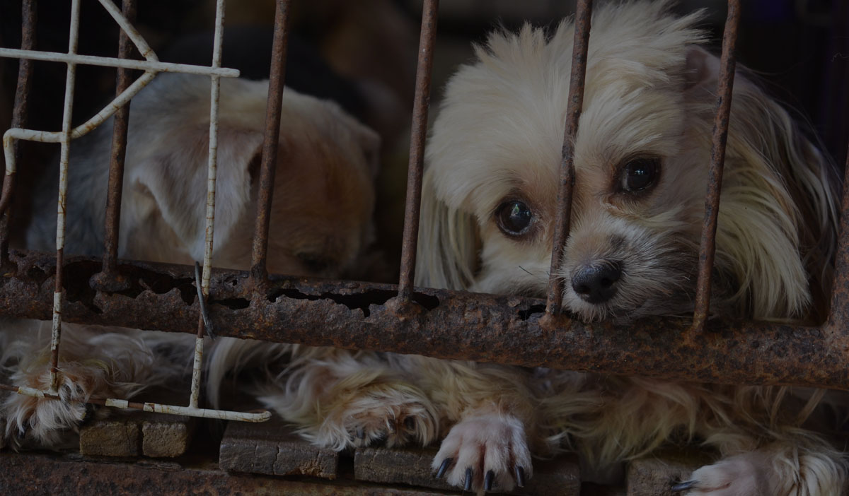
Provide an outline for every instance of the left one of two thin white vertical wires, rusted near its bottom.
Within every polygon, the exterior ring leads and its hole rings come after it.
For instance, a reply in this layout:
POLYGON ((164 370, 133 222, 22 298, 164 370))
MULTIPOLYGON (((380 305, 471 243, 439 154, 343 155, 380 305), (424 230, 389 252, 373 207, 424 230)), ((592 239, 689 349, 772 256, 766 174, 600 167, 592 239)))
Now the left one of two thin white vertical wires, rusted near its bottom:
MULTIPOLYGON (((68 53, 76 53, 80 32, 80 0, 70 4, 70 34, 68 53)), ((62 272, 65 259, 65 210, 67 208, 68 160, 70 157, 70 118, 74 108, 76 64, 68 62, 65 76, 65 109, 62 112, 62 148, 59 151, 59 200, 56 213, 56 286, 53 289, 53 334, 50 340, 50 387, 59 386, 59 341, 62 336, 62 272)))

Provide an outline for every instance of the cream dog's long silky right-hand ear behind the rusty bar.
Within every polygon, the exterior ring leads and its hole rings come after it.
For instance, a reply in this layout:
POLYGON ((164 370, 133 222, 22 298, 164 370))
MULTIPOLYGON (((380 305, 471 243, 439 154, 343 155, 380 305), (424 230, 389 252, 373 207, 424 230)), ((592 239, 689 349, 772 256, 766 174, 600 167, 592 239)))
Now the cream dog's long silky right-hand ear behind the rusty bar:
MULTIPOLYGON (((690 47, 685 100, 709 139, 719 60, 690 47)), ((836 237, 834 167, 790 114, 748 80, 734 77, 717 226, 717 268, 733 277, 735 304, 756 318, 823 316, 836 237), (734 240, 745 239, 748 242, 734 240), (799 256, 801 251, 801 257, 799 256), (806 315, 810 313, 811 315, 806 315)))

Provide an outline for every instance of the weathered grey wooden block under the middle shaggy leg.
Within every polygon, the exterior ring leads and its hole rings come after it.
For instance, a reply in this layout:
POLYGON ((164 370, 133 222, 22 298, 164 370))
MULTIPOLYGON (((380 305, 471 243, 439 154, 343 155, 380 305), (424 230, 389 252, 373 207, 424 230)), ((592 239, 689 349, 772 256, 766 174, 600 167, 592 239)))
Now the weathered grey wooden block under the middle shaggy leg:
POLYGON ((228 422, 219 466, 233 472, 335 479, 339 453, 306 442, 277 418, 259 424, 228 422))

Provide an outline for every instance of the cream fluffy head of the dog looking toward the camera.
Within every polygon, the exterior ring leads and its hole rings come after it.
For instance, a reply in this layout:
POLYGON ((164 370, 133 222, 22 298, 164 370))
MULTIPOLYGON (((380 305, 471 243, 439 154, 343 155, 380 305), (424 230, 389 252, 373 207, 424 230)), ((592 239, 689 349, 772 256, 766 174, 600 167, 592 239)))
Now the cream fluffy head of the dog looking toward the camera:
MULTIPOLYGON (((718 60, 698 14, 593 14, 559 276, 584 320, 692 309, 718 60)), ((542 295, 571 70, 571 22, 493 33, 447 84, 424 176, 422 285, 542 295)), ((807 315, 829 279, 835 181, 789 115, 738 74, 717 232, 714 310, 807 315)))

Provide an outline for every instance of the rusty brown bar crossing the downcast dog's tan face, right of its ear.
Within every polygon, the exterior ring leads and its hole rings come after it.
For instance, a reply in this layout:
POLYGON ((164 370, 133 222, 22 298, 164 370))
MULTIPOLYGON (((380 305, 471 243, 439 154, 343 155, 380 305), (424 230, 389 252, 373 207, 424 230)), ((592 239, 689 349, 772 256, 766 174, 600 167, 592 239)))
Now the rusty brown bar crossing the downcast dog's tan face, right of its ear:
POLYGON ((266 129, 262 141, 260 166, 260 192, 256 200, 256 224, 250 259, 250 276, 255 284, 266 281, 268 270, 268 226, 271 222, 271 203, 274 190, 274 173, 277 170, 277 148, 280 139, 280 108, 286 81, 286 53, 289 45, 289 13, 291 0, 277 0, 274 9, 274 39, 271 55, 271 72, 268 81, 266 129))

